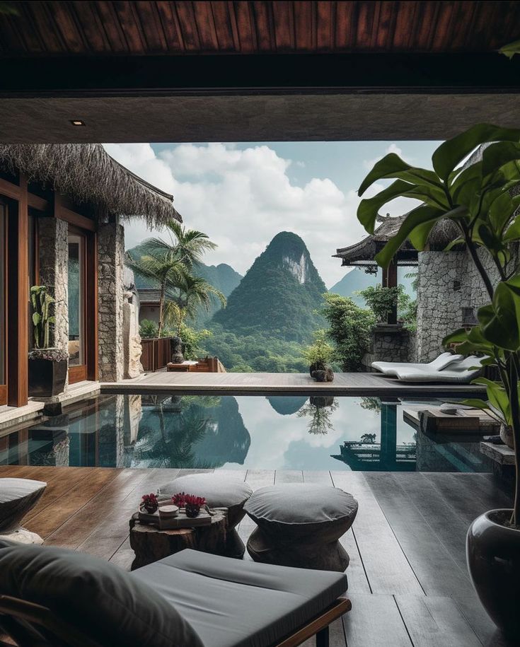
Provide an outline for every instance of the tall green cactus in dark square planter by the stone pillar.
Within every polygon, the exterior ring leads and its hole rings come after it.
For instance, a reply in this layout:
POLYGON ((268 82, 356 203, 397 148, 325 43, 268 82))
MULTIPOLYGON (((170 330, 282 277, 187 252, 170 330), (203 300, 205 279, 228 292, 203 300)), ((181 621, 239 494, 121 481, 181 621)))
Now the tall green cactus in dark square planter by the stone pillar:
POLYGON ((50 347, 50 329, 55 321, 50 314, 53 303, 46 286, 30 288, 34 346, 29 352, 29 395, 33 397, 58 395, 67 380, 69 354, 50 347))

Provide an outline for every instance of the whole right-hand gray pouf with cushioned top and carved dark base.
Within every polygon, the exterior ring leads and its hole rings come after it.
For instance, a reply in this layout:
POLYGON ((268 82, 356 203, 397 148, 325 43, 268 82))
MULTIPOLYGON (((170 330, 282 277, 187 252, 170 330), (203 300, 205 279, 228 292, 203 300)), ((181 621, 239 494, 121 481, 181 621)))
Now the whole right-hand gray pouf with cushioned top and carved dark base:
POLYGON ((248 540, 254 561, 301 569, 345 571, 349 556, 338 541, 352 525, 357 501, 336 487, 262 487, 244 506, 258 527, 248 540))

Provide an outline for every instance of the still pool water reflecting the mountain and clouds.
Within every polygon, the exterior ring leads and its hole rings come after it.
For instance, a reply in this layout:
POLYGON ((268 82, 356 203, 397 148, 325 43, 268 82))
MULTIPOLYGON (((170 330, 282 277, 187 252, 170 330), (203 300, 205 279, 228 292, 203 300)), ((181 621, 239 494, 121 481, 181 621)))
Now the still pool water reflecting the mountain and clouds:
MULTIPOLYGON (((422 402, 439 402, 423 400, 422 402)), ((478 432, 427 436, 417 400, 101 395, 0 431, 0 465, 488 472, 478 432)))

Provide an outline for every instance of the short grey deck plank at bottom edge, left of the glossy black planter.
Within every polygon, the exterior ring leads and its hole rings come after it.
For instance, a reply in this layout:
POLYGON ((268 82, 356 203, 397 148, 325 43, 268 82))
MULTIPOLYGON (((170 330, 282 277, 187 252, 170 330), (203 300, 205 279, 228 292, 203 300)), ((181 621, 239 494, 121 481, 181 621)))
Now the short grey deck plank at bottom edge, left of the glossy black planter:
POLYGON ((452 598, 396 595, 414 647, 482 647, 452 598))

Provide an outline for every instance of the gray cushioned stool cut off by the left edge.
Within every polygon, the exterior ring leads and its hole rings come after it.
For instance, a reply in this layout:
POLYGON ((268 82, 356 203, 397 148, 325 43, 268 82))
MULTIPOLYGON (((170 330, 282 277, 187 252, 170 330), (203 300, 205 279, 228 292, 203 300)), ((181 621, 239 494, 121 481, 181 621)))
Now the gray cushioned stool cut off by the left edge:
POLYGON ((19 530, 20 522, 33 508, 47 483, 30 479, 0 479, 0 534, 19 530))

